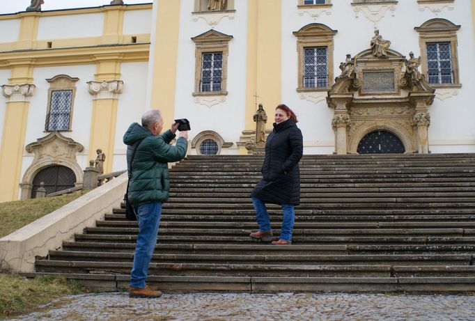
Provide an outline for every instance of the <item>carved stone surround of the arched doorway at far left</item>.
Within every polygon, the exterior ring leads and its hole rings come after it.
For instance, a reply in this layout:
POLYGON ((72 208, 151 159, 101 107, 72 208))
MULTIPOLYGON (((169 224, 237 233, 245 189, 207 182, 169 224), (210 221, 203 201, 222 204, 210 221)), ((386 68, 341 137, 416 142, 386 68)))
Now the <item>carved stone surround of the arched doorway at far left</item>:
POLYGON ((61 135, 59 132, 51 132, 47 136, 38 139, 35 143, 26 145, 26 152, 34 153, 35 157, 28 169, 26 169, 22 184, 22 200, 31 196, 33 178, 47 166, 66 166, 75 173, 76 186, 82 185, 83 171, 77 164, 76 154, 84 149, 80 143, 61 135))

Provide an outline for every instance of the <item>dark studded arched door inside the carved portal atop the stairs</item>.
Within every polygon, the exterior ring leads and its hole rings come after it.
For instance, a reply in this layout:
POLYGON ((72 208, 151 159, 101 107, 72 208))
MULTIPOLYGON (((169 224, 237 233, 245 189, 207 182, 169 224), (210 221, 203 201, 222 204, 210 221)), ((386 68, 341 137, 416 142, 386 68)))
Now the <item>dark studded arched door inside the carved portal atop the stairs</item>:
POLYGON ((398 136, 377 130, 359 141, 357 152, 358 154, 402 154, 405 148, 398 136))

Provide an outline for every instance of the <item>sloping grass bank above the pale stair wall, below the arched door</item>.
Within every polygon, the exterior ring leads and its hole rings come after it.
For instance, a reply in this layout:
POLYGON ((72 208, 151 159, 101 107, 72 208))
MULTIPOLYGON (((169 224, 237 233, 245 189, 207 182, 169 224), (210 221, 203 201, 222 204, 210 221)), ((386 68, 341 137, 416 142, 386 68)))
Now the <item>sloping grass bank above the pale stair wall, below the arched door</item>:
POLYGON ((0 203, 0 238, 44 217, 86 193, 87 191, 76 191, 61 196, 0 203))

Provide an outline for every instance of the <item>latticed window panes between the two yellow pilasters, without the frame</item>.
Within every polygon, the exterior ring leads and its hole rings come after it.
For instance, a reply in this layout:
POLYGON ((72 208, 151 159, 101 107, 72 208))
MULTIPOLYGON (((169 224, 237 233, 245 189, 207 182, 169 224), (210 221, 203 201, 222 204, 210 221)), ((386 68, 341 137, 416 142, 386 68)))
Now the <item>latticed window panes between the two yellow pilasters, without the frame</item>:
POLYGON ((221 91, 223 53, 208 52, 201 56, 200 91, 221 91))

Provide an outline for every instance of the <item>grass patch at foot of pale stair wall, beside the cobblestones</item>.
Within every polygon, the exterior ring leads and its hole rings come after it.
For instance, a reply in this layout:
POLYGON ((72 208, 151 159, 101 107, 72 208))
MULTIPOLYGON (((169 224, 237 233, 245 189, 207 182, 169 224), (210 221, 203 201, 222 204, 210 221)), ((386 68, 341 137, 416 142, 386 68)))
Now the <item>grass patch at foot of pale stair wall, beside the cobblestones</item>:
POLYGON ((38 306, 64 295, 81 292, 81 285, 63 276, 38 276, 26 279, 0 274, 0 318, 34 311, 38 306))

